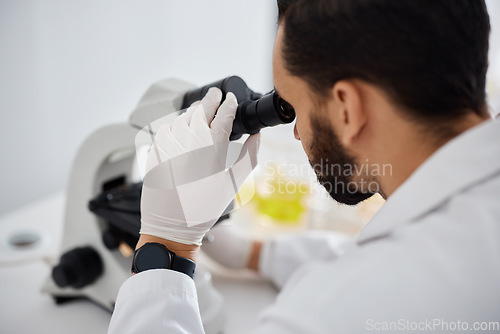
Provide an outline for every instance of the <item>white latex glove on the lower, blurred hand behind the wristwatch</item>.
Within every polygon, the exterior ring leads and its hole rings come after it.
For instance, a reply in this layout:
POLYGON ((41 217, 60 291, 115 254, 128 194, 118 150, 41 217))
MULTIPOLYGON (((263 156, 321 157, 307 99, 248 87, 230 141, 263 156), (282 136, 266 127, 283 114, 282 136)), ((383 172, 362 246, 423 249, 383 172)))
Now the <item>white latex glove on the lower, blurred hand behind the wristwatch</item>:
POLYGON ((220 222, 207 233, 208 241, 201 249, 225 267, 243 269, 252 250, 252 239, 238 231, 230 222, 220 222))

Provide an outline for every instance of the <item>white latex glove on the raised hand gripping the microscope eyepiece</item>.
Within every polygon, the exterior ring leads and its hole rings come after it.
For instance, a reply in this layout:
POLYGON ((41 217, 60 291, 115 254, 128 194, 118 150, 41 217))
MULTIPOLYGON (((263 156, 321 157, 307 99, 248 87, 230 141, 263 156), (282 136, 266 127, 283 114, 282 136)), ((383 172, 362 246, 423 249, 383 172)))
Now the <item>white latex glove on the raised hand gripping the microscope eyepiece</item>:
POLYGON ((211 88, 201 103, 158 129, 142 188, 141 234, 201 245, 256 166, 259 134, 243 147, 230 143, 238 103, 228 93, 219 107, 221 98, 211 88))

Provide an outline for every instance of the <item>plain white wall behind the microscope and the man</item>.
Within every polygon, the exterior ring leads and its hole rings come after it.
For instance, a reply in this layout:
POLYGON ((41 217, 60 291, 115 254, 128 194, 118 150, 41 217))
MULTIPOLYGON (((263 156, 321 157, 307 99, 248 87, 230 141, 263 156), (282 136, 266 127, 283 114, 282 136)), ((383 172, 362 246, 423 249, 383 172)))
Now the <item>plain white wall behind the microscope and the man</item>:
MULTIPOLYGON (((487 2, 496 108, 500 3, 487 2)), ((0 0, 0 214, 64 189, 82 141, 126 121, 155 81, 238 74, 269 90, 275 3, 0 0)))

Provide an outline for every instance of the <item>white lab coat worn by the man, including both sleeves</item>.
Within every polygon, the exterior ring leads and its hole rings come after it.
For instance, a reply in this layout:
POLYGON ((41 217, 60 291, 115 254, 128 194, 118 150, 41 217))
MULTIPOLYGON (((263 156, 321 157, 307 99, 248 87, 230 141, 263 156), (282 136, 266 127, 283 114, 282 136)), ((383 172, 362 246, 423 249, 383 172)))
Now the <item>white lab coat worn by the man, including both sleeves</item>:
MULTIPOLYGON (((499 322, 500 122, 440 148, 342 256, 328 242, 281 238, 265 245, 261 266, 284 286, 256 319, 258 334, 422 333, 499 322)), ((170 270, 129 278, 109 333, 203 333, 193 281, 170 270)))

